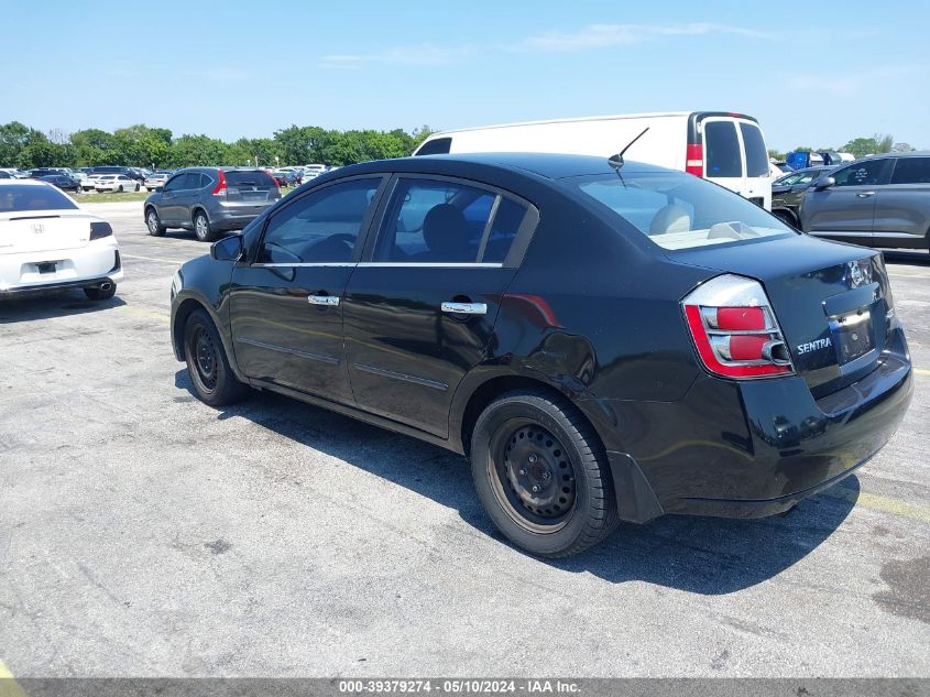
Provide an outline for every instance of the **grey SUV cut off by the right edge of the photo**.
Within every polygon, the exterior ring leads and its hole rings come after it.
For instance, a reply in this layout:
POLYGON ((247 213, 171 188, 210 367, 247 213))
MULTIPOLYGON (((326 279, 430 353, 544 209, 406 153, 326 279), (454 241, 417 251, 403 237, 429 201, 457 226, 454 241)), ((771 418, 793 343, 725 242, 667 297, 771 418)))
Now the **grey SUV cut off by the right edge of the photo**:
POLYGON ((930 152, 887 153, 821 175, 800 205, 810 235, 930 249, 930 152))

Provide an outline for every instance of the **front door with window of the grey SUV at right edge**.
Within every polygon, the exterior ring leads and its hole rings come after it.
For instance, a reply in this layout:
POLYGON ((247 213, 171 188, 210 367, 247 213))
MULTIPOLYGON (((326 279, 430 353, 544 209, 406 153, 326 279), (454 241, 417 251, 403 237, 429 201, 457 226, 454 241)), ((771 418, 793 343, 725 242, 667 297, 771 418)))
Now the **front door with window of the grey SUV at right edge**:
POLYGON ((863 160, 838 170, 833 186, 805 194, 801 229, 811 235, 871 244, 875 203, 890 176, 888 157, 863 160))

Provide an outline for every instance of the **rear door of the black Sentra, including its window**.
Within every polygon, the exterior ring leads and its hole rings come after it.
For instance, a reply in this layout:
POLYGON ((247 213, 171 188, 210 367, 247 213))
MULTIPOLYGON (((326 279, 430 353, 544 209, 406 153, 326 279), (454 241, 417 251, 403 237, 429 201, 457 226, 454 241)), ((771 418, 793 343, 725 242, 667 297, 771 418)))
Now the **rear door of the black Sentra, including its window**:
POLYGON ((352 391, 363 410, 448 437, 456 386, 485 356, 538 213, 463 179, 403 175, 392 188, 346 292, 352 391))

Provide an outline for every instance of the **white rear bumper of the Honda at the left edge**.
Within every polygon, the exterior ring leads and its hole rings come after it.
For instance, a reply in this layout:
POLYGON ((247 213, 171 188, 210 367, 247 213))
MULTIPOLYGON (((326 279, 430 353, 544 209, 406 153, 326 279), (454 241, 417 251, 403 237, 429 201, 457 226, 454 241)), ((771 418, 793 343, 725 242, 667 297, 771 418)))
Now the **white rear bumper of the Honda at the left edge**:
POLYGON ((95 240, 78 249, 0 255, 0 295, 116 283, 122 276, 113 238, 95 240), (55 272, 42 273, 39 264, 48 262, 55 262, 55 272))

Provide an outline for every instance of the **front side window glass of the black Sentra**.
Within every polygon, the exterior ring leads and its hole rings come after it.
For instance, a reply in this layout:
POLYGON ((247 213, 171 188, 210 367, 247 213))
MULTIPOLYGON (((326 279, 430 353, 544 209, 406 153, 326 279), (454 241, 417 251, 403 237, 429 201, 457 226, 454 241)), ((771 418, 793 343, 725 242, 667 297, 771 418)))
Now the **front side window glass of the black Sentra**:
POLYGON ((302 196, 269 221, 259 262, 351 261, 380 185, 380 177, 353 179, 302 196))

